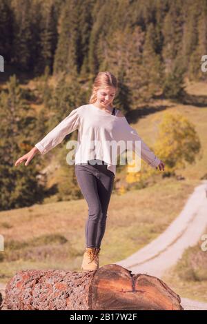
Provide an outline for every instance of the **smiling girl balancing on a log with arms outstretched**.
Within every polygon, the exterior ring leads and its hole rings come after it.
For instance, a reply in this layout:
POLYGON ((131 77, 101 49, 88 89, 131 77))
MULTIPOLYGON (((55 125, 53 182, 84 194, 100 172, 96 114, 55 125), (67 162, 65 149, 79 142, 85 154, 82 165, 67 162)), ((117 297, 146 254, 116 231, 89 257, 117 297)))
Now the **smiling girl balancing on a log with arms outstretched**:
POLYGON ((88 203, 86 221, 86 247, 81 270, 94 271, 99 268, 99 252, 106 229, 107 210, 114 184, 117 156, 126 150, 118 148, 113 154, 108 142, 116 148, 117 141, 132 142, 132 150, 152 166, 164 170, 164 163, 142 141, 137 131, 130 127, 126 118, 113 107, 117 93, 117 79, 110 72, 99 72, 95 78, 89 104, 72 110, 68 117, 51 130, 34 148, 21 156, 15 165, 26 160, 28 165, 33 156, 46 154, 63 141, 66 134, 78 132, 78 147, 75 150, 75 174, 81 192, 88 203), (134 141, 139 141, 138 150, 134 141), (95 143, 94 143, 95 142, 95 143), (94 149, 92 149, 92 147, 94 149), (140 152, 140 153, 139 153, 140 152))

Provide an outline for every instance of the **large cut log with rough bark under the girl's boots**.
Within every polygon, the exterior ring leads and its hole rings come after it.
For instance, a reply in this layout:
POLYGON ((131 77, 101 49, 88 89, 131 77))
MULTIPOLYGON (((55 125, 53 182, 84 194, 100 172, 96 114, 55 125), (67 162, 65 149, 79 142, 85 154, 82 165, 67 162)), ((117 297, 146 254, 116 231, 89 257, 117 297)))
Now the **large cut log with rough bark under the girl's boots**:
POLYGON ((164 281, 116 264, 93 272, 17 272, 5 302, 10 310, 183 310, 164 281))

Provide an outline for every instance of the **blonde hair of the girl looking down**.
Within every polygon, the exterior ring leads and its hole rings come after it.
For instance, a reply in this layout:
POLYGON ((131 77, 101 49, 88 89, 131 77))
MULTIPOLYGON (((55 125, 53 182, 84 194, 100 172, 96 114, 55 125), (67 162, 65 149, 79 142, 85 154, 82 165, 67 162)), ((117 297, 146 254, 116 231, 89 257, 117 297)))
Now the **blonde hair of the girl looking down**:
POLYGON ((90 96, 89 103, 95 103, 95 101, 97 101, 97 90, 99 90, 99 88, 108 87, 113 87, 116 91, 118 90, 118 82, 116 77, 108 71, 99 72, 92 85, 92 94, 90 96))

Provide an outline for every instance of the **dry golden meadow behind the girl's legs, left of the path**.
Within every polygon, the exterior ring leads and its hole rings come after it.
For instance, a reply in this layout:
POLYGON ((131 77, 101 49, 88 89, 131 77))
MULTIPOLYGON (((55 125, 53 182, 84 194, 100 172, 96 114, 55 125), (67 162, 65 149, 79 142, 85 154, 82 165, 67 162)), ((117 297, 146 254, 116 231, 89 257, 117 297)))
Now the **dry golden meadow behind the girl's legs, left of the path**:
MULTIPOLYGON (((100 265, 126 258, 161 234, 184 207, 194 185, 194 181, 164 179, 161 185, 122 196, 112 194, 100 265)), ((84 199, 1 212, 0 232, 5 241, 1 281, 31 268, 79 270, 87 217, 84 199)))

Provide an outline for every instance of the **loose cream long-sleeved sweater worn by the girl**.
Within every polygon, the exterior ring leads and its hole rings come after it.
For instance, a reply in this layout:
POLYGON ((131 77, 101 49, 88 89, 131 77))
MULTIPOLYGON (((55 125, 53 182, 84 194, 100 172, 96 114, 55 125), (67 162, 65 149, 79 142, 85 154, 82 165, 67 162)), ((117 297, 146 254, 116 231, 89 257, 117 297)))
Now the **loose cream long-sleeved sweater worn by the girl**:
POLYGON ((117 156, 128 150, 128 143, 131 143, 131 150, 141 159, 146 161, 152 168, 156 168, 160 160, 148 148, 146 143, 131 128, 125 117, 118 117, 93 104, 81 105, 70 112, 53 130, 51 130, 41 141, 35 144, 41 154, 46 154, 52 148, 63 141, 67 134, 78 130, 78 143, 75 148, 75 164, 87 163, 91 159, 106 161, 108 170, 116 174, 117 156), (111 143, 124 142, 127 148, 117 145, 117 153, 112 154, 111 143), (135 145, 140 141, 140 145, 135 145))

